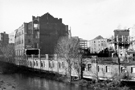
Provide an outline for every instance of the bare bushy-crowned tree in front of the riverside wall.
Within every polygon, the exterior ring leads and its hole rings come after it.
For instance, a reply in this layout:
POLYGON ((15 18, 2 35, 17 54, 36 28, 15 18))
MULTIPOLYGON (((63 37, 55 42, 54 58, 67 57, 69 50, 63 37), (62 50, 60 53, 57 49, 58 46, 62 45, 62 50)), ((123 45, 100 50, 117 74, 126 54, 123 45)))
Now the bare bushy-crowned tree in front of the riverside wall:
POLYGON ((73 63, 76 63, 76 66, 80 68, 78 61, 80 60, 78 58, 80 55, 78 53, 78 50, 79 50, 79 38, 68 38, 68 37, 60 38, 55 50, 58 56, 66 60, 68 64, 67 76, 69 77, 70 81, 71 81, 71 68, 73 63))

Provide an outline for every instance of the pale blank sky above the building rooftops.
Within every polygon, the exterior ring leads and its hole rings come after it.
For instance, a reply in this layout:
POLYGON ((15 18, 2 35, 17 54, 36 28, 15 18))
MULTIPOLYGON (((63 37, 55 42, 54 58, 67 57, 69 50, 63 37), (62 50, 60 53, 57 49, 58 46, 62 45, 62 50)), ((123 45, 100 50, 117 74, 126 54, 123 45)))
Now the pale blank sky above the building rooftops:
POLYGON ((83 39, 108 38, 115 29, 135 34, 135 0, 0 0, 0 32, 12 33, 47 12, 83 39))

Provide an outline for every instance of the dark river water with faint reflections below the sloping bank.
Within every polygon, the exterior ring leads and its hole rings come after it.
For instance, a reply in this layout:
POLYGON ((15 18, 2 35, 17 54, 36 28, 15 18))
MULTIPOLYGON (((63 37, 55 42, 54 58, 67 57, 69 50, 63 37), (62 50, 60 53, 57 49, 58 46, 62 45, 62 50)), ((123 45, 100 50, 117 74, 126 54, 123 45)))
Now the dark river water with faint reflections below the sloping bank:
POLYGON ((83 87, 23 74, 0 75, 4 81, 15 85, 14 90, 86 90, 83 87))

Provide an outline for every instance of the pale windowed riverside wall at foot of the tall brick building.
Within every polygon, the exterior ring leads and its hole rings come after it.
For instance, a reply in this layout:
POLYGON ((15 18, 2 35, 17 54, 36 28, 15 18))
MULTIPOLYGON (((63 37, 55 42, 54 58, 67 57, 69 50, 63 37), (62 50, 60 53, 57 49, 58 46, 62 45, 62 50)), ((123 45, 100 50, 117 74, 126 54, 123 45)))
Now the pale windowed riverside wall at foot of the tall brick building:
MULTIPOLYGON (((17 62, 16 64, 20 65, 19 62, 17 62)), ((37 70, 49 71, 53 73, 59 73, 62 75, 67 74, 67 68, 68 68, 67 62, 64 59, 56 59, 56 58, 53 60, 49 60, 47 58, 41 58, 41 59, 28 58, 27 66, 37 70)), ((78 73, 73 66, 71 69, 71 76, 78 77, 78 73)))

